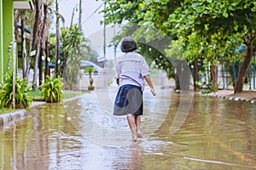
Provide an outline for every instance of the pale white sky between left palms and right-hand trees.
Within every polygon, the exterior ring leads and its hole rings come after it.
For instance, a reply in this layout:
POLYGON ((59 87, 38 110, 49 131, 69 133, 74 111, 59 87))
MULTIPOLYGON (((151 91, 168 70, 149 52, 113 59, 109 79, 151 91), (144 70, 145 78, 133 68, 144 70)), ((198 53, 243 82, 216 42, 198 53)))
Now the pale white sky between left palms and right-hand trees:
MULTIPOLYGON (((104 8, 102 0, 82 0, 82 29, 84 36, 90 39, 91 47, 103 56, 103 14, 100 11, 104 8), (102 5, 101 8, 99 8, 102 5), (96 9, 99 8, 97 11, 96 9), (96 13, 95 13, 96 11, 96 13)), ((73 8, 73 24, 79 23, 79 0, 60 0, 60 14, 65 18, 65 27, 71 25, 73 8)), ((61 25, 63 26, 63 25, 61 25)), ((55 29, 55 28, 54 28, 55 29)), ((107 26, 107 46, 113 37, 113 26, 107 26)), ((107 48, 107 59, 113 59, 113 48, 107 48)))

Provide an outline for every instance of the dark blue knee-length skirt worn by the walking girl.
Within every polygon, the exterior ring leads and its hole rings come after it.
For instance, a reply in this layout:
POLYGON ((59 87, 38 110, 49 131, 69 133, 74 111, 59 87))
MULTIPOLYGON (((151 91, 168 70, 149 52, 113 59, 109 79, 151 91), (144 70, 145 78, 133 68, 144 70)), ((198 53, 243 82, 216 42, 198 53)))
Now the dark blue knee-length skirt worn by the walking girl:
POLYGON ((143 115, 143 91, 141 87, 125 84, 119 88, 114 101, 113 115, 124 116, 126 114, 143 115))

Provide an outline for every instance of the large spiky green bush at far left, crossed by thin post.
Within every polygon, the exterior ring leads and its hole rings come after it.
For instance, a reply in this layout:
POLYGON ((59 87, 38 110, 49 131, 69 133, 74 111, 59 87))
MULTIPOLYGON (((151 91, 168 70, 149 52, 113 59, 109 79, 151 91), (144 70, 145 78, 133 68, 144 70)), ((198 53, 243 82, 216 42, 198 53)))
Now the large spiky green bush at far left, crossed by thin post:
MULTIPOLYGON (((7 74, 4 83, 0 85, 0 107, 12 107, 13 102, 13 76, 7 74)), ((27 82, 24 79, 16 77, 15 80, 15 107, 16 108, 28 108, 32 104, 32 97, 29 92, 31 87, 26 87, 27 82)))

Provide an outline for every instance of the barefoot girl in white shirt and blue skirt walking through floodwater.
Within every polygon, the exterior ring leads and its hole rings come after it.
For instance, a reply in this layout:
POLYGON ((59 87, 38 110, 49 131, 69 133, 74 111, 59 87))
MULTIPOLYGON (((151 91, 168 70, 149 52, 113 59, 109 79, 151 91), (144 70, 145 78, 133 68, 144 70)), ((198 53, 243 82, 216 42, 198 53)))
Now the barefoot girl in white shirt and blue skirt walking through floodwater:
POLYGON ((121 41, 122 55, 116 65, 119 91, 113 107, 113 115, 127 116, 131 128, 132 141, 143 138, 141 132, 141 116, 143 115, 144 80, 148 83, 151 93, 155 96, 153 84, 149 77, 148 64, 142 55, 137 54, 137 43, 131 37, 121 41))

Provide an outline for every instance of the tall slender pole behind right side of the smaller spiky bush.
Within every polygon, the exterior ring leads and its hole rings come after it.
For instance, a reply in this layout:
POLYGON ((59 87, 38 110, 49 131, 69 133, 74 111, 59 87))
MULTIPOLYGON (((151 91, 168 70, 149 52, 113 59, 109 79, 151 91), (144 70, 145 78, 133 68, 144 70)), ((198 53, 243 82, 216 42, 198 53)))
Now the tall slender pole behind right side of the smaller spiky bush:
POLYGON ((56 6, 56 46, 55 46, 55 74, 56 77, 59 76, 58 71, 58 61, 60 59, 60 23, 59 23, 59 4, 58 0, 55 0, 55 6, 56 6))

